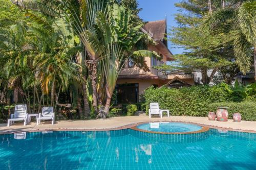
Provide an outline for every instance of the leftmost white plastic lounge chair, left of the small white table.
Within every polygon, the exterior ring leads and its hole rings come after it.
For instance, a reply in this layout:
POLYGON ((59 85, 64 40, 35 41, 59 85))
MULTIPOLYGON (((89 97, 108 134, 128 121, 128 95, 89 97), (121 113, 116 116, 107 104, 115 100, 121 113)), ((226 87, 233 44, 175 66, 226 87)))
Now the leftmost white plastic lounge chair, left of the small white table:
POLYGON ((24 120, 24 126, 27 124, 27 105, 15 105, 14 114, 8 119, 7 126, 9 127, 14 121, 24 120))

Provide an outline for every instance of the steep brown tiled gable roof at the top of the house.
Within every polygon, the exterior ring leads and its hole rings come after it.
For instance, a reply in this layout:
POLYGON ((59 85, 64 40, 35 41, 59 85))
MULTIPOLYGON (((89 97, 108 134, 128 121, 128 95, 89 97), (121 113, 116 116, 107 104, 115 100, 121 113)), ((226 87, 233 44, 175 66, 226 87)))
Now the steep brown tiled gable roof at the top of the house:
POLYGON ((154 39, 163 41, 166 33, 166 20, 149 21, 143 28, 154 39))

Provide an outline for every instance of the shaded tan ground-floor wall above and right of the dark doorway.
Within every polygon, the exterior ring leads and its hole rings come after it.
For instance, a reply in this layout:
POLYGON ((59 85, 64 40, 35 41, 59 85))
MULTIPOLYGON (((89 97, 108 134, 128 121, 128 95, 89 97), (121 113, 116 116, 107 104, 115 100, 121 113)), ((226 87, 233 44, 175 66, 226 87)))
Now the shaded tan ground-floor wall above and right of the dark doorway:
MULTIPOLYGON (((152 86, 153 84, 159 87, 163 84, 159 79, 119 79, 116 84, 126 84, 126 83, 138 83, 139 84, 139 96, 144 93, 145 89, 152 86)), ((139 99, 140 101, 140 99, 139 99)))

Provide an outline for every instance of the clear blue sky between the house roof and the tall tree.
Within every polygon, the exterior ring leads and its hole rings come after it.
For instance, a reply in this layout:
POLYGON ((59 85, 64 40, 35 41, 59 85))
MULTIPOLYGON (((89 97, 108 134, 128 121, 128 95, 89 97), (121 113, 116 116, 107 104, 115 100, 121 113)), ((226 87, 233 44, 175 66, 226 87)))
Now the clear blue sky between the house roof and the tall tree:
MULTIPOLYGON (((144 21, 163 20, 167 17, 167 32, 172 27, 176 27, 177 23, 174 19, 175 13, 178 13, 178 9, 175 7, 175 3, 181 0, 137 0, 139 8, 142 11, 139 16, 144 21)), ((171 42, 168 42, 168 48, 173 54, 182 54, 182 48, 174 48, 171 42)))

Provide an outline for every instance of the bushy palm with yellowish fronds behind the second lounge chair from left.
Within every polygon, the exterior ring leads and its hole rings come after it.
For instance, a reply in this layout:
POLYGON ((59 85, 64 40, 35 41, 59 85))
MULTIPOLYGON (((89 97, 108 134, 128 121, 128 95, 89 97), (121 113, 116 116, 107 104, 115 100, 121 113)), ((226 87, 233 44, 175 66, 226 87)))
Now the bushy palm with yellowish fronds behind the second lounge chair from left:
POLYGON ((72 61, 71 56, 79 52, 79 48, 65 42, 65 39, 62 39, 63 37, 59 36, 53 28, 48 32, 37 25, 36 28, 31 29, 30 33, 38 37, 40 42, 37 44, 38 54, 33 63, 36 68, 36 77, 43 93, 48 94, 49 85, 51 85, 50 105, 54 106, 56 83, 59 84, 60 91, 60 88, 64 90, 69 87, 71 79, 77 79, 76 73, 80 66, 72 61))

